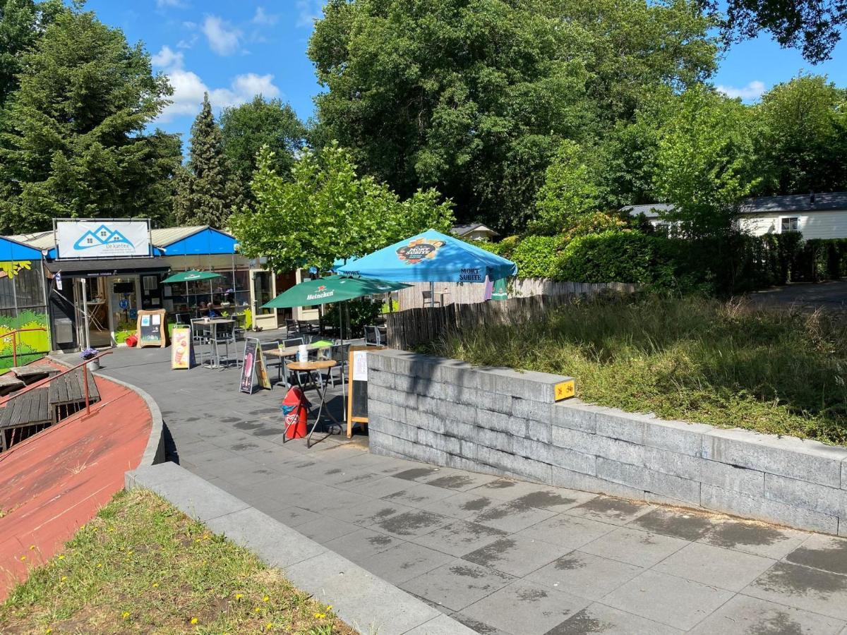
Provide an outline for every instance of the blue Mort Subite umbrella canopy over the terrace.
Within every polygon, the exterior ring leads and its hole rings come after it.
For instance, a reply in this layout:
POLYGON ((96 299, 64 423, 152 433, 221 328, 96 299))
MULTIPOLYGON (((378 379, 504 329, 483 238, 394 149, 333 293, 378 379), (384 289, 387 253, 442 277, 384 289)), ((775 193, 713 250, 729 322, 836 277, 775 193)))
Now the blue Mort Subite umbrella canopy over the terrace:
POLYGON ((518 273, 518 266, 429 229, 335 269, 338 273, 397 282, 484 282, 518 273))

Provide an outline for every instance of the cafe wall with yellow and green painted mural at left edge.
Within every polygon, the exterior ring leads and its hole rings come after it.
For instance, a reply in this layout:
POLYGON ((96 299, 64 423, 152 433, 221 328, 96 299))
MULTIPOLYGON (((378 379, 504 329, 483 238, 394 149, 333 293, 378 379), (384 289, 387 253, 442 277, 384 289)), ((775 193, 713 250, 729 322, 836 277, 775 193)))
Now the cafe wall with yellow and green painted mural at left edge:
POLYGON ((37 261, 0 261, 0 371, 14 366, 15 344, 18 366, 50 351, 44 276, 37 261), (37 330, 13 337, 19 329, 37 330))

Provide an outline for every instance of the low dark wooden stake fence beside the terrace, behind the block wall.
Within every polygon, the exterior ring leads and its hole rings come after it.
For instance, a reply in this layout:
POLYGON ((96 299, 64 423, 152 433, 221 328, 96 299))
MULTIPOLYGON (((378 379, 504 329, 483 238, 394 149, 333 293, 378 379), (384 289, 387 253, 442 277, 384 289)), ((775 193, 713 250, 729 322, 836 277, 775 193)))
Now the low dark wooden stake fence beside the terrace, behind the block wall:
MULTIPOLYGON (((632 293, 634 284, 622 283, 553 283, 560 290, 556 294, 512 297, 506 301, 475 303, 453 302, 445 306, 418 307, 389 313, 386 317, 387 340, 391 348, 411 349, 441 336, 476 324, 519 324, 537 320, 556 306, 573 300, 577 295, 595 295, 601 290, 632 293)), ((468 284, 466 286, 483 286, 468 284)), ((427 284, 429 288, 429 284, 427 284)), ((408 291, 408 290, 404 290, 408 291)), ((403 291, 401 291, 402 293, 403 291)), ((435 290, 438 298, 438 287, 435 290)), ((481 299, 481 296, 480 296, 481 299)))

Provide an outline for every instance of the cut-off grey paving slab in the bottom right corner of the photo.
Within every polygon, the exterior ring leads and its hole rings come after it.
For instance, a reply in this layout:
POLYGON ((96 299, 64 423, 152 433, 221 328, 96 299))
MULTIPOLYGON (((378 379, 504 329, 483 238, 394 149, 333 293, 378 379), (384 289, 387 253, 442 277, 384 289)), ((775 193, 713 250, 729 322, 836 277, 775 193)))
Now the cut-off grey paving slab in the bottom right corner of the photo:
POLYGON ((693 635, 728 635, 729 633, 833 635, 841 632, 842 628, 844 628, 844 621, 833 617, 774 604, 764 599, 736 595, 689 632, 693 635))

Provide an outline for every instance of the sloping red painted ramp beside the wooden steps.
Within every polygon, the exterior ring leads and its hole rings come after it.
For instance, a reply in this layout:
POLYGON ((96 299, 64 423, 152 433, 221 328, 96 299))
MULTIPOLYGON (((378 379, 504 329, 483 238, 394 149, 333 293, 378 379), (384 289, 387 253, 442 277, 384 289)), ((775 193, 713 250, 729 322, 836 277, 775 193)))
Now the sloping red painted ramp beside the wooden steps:
POLYGON ((102 401, 0 454, 0 599, 53 557, 124 487, 152 417, 130 389, 98 377, 102 401))

